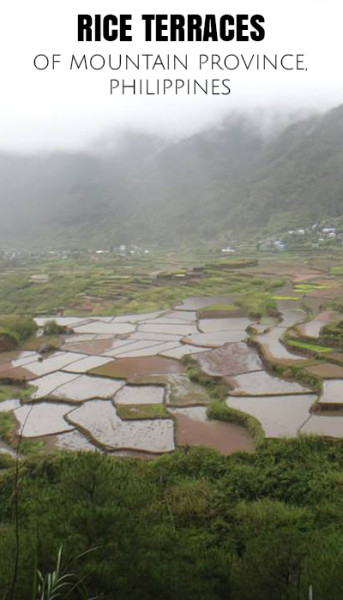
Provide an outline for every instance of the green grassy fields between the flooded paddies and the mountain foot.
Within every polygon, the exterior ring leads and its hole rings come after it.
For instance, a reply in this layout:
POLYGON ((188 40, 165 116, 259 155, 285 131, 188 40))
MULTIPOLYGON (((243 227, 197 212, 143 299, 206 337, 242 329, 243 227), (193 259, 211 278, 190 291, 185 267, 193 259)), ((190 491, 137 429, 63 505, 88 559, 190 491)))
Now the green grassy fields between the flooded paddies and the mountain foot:
MULTIPOLYGON (((67 315, 125 314, 164 309, 179 304, 185 296, 247 295, 258 288, 267 292, 281 285, 280 279, 254 278, 244 268, 256 261, 237 257, 233 261, 205 269, 210 258, 206 253, 170 253, 156 250, 154 257, 122 259, 109 256, 90 264, 89 255, 58 259, 41 259, 39 270, 49 276, 46 283, 33 283, 37 264, 0 269, 0 314, 54 315, 63 309, 67 315), (201 277, 190 280, 188 273, 201 277), (227 270, 225 270, 227 269, 227 270), (242 271, 240 271, 242 269, 242 271), (168 280, 157 273, 174 272, 185 277, 168 280)), ((210 260, 213 260, 212 257, 210 260)), ((1 262, 0 262, 1 267, 1 262)), ((226 308, 227 309, 227 308, 226 308)), ((233 310, 233 309, 232 309, 233 310)))

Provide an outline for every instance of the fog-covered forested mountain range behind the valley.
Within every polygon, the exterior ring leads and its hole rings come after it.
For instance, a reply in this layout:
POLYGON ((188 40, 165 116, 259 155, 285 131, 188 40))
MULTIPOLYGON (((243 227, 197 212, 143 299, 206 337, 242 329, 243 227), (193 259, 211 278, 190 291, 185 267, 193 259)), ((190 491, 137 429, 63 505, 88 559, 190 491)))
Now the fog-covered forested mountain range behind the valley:
POLYGON ((263 134, 228 118, 178 142, 0 154, 1 245, 214 239, 343 215, 343 106, 263 134))

